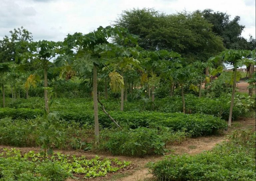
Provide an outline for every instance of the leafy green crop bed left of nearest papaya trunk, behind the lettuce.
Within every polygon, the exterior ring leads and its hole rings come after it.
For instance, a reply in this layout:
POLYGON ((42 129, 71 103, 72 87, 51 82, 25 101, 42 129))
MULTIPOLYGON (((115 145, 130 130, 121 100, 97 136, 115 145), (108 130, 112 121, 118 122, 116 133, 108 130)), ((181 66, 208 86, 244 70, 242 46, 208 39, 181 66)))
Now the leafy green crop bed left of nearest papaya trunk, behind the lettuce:
POLYGON ((84 149, 91 127, 75 122, 38 117, 31 120, 0 119, 0 144, 11 146, 43 146, 47 149, 84 149), (79 144, 79 146, 77 145, 79 144))

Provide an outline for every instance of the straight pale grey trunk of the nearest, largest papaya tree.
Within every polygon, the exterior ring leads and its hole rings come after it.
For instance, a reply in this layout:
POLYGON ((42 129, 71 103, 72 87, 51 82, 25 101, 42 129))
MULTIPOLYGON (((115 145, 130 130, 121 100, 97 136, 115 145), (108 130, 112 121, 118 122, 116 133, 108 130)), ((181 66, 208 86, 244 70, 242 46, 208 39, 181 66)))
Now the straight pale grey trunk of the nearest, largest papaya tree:
POLYGON ((99 143, 99 118, 98 118, 98 96, 97 96, 97 67, 93 65, 93 111, 95 144, 99 143))

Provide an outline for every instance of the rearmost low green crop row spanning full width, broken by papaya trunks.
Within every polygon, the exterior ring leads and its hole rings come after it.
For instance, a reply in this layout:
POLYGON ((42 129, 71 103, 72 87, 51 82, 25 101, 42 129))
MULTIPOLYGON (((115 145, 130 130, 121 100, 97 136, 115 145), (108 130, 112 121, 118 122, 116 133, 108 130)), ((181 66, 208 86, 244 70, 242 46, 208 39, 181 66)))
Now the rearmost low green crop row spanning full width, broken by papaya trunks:
MULTIPOLYGON (((210 99, 207 97, 196 97, 191 94, 185 96, 186 113, 203 113, 208 115, 214 115, 227 120, 229 116, 230 107, 230 94, 221 95, 218 98, 210 99)), ((118 100, 101 100, 105 105, 107 111, 120 110, 120 101, 118 100)), ((15 101, 9 100, 7 103, 9 108, 31 108, 31 109, 44 109, 44 101, 42 98, 29 98, 29 99, 17 99, 15 101)), ((158 112, 182 112, 182 100, 180 96, 167 97, 163 99, 156 99, 155 106, 153 108, 158 112)), ((236 95, 235 105, 233 108, 233 120, 236 120, 244 113, 255 109, 255 98, 244 95, 236 95)), ((56 99, 55 103, 51 107, 52 111, 59 111, 62 114, 68 112, 83 112, 93 111, 93 102, 91 99, 56 99), (61 110, 61 111, 60 111, 61 110), (65 111, 63 111, 65 110, 65 111)), ((152 110, 151 103, 145 103, 144 101, 125 102, 125 111, 145 111, 152 110)), ((70 119, 71 116, 69 116, 70 119)), ((28 117, 29 118, 29 117, 28 117)), ((31 118, 31 117, 30 117, 31 118)), ((77 118, 74 118, 77 119, 77 118)))

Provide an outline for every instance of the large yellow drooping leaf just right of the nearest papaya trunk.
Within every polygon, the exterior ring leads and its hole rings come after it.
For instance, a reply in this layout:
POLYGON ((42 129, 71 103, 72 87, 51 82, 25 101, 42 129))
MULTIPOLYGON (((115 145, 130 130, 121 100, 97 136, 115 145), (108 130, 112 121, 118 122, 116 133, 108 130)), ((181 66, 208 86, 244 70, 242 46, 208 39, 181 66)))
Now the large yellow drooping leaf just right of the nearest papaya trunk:
POLYGON ((124 88, 124 78, 116 71, 110 72, 110 87, 113 92, 120 91, 122 88, 124 88))

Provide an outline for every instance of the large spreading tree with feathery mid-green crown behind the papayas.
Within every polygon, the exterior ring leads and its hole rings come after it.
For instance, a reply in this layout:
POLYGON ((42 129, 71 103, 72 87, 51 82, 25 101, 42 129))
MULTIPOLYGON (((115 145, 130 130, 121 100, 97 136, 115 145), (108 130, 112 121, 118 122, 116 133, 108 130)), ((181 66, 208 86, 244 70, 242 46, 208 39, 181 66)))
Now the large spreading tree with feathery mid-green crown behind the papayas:
POLYGON ((224 50, 221 37, 198 11, 164 14, 154 9, 131 9, 123 11, 114 25, 138 35, 145 50, 175 51, 190 62, 205 61, 224 50))

